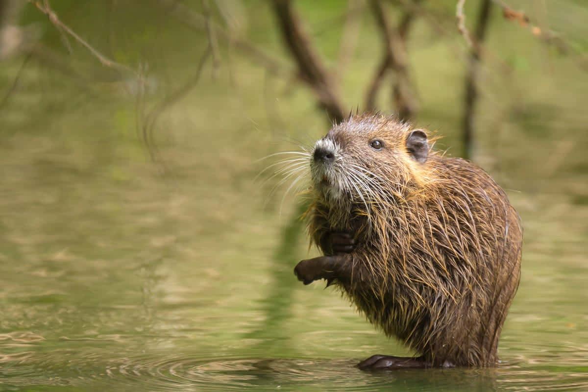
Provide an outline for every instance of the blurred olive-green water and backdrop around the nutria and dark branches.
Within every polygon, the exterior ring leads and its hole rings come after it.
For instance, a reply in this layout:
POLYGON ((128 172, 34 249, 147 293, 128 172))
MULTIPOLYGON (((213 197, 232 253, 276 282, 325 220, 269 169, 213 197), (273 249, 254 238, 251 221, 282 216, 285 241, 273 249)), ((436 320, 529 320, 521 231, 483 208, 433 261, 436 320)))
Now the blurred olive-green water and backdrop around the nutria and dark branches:
MULTIPOLYGON (((420 3, 407 52, 413 121, 460 156, 469 49, 455 3, 420 3)), ((391 21, 406 4, 385 2, 391 21)), ((298 260, 317 254, 302 200, 272 169, 258 176, 278 160, 262 158, 330 126, 269 2, 51 2, 118 68, 31 2, 0 5, 0 390, 588 389, 586 2, 509 2, 552 42, 496 4, 487 30, 470 158, 524 226, 502 365, 378 375, 353 364, 411 353, 338 292, 296 281, 298 260), (216 65, 178 4, 226 32, 216 65)), ((470 29, 479 5, 466 2, 470 29)), ((361 111, 382 55, 369 6, 293 6, 345 109, 361 111)), ((386 113, 392 82, 377 97, 386 113)))

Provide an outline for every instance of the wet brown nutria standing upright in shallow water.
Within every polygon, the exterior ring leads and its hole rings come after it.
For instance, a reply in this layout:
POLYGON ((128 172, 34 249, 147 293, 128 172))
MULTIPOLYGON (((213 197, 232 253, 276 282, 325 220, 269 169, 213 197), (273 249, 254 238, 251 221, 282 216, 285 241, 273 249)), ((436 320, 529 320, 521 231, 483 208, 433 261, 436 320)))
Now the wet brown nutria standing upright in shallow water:
POLYGON ((306 152, 311 241, 295 268, 326 279, 418 357, 376 355, 363 369, 494 366, 520 277, 522 227, 480 167, 430 148, 394 117, 350 116, 306 152))

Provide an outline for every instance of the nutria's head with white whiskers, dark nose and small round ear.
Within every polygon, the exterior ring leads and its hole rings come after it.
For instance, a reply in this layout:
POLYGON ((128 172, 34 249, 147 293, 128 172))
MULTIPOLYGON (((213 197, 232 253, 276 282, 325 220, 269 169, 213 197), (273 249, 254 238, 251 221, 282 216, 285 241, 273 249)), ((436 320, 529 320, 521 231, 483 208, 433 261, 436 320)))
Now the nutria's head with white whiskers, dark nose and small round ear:
POLYGON ((315 143, 313 189, 329 204, 390 201, 420 177, 428 156, 424 130, 383 115, 354 118, 315 143))

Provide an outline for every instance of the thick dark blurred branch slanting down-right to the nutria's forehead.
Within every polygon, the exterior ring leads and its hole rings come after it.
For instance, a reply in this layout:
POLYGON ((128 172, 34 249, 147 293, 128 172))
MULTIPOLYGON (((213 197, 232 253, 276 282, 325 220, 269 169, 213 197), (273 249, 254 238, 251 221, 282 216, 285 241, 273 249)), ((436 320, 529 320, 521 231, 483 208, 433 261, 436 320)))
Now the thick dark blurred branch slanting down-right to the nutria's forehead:
POLYGON ((286 46, 298 65, 300 77, 315 92, 319 105, 327 111, 329 118, 335 122, 342 121, 345 114, 333 76, 327 71, 310 43, 309 36, 303 31, 292 4, 289 0, 274 0, 273 8, 286 46))

